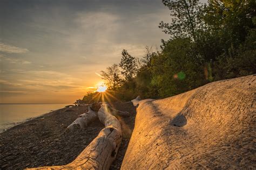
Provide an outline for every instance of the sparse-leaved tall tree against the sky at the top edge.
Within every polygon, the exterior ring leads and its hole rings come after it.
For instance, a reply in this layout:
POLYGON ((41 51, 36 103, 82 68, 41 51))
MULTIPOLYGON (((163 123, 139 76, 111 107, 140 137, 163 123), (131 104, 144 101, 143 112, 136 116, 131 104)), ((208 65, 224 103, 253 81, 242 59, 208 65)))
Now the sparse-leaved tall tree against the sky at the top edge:
POLYGON ((187 38, 196 40, 196 31, 202 29, 204 24, 201 19, 202 4, 199 0, 163 0, 165 6, 171 10, 172 22, 160 22, 159 28, 171 38, 187 38))

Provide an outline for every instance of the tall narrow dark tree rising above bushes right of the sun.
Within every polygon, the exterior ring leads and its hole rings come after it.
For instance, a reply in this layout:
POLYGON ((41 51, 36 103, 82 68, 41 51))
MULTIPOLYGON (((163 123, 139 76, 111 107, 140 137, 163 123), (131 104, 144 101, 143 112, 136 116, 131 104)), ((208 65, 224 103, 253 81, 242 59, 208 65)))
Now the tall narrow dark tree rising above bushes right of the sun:
POLYGON ((127 81, 130 81, 132 77, 136 75, 138 70, 136 59, 131 56, 126 49, 123 49, 122 51, 122 59, 119 66, 122 68, 121 73, 127 81))

